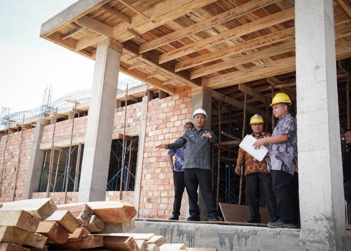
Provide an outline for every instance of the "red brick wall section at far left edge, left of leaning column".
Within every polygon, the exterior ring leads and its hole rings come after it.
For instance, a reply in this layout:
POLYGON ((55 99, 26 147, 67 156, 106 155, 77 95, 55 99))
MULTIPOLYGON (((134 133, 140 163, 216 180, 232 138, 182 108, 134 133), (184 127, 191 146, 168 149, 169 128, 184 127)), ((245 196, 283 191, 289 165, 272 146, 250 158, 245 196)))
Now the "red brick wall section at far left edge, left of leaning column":
MULTIPOLYGON (((23 199, 27 180, 27 171, 31 159, 34 131, 35 128, 32 128, 23 132, 20 165, 17 173, 17 185, 14 198, 15 200, 23 199)), ((2 188, 0 190, 0 201, 2 202, 12 201, 12 194, 15 185, 15 166, 17 165, 20 153, 21 132, 9 135, 9 141, 5 153, 5 169, 3 170, 4 150, 7 137, 7 135, 2 136, 0 143, 0 170, 4 171, 2 188)))

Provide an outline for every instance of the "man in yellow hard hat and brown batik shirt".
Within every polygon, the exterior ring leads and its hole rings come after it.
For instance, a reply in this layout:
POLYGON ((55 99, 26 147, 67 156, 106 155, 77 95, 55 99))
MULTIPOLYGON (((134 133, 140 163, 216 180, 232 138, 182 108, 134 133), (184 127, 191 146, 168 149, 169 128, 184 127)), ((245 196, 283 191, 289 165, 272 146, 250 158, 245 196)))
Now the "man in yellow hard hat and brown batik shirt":
MULTIPOLYGON (((252 136, 255 139, 262 139, 270 137, 271 135, 263 132, 263 118, 255 114, 250 119, 250 126, 252 129, 252 136)), ((277 202, 272 189, 272 176, 270 171, 267 169, 267 156, 262 160, 258 161, 250 154, 245 152, 242 148, 239 148, 239 154, 237 159, 237 165, 235 172, 240 175, 241 166, 245 161, 245 180, 247 184, 247 197, 249 201, 249 210, 251 218, 245 220, 248 223, 261 223, 260 215, 260 185, 262 193, 264 195, 264 201, 267 205, 267 209, 271 219, 276 221, 277 215, 277 202)))

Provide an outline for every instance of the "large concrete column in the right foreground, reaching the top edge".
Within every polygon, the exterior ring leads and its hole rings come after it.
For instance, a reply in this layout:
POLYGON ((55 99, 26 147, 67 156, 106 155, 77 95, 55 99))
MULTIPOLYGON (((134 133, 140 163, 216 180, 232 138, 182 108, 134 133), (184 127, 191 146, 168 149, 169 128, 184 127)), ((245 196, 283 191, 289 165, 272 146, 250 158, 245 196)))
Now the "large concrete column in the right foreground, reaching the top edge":
POLYGON ((296 0, 300 249, 345 250, 333 2, 296 0))

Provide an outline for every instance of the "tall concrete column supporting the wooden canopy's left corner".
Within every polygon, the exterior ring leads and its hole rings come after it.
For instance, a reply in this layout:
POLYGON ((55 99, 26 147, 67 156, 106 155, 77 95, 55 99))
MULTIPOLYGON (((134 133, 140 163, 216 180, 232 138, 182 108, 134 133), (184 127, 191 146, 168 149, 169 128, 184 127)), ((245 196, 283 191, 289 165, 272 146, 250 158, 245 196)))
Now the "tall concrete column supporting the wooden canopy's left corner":
POLYGON ((78 202, 104 201, 116 107, 120 52, 97 44, 78 202))

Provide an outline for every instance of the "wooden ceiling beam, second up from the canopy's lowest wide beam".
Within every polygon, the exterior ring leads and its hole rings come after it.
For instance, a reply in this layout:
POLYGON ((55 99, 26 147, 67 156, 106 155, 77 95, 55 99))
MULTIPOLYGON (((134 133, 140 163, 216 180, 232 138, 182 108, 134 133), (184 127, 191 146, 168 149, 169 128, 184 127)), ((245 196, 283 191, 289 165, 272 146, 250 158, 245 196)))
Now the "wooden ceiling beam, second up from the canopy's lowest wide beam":
POLYGON ((262 51, 253 52, 245 56, 236 57, 234 59, 225 60, 221 63, 210 65, 190 73, 190 79, 202 77, 217 71, 229 69, 242 64, 254 62, 256 60, 264 59, 274 55, 279 55, 285 52, 289 52, 295 49, 295 41, 291 41, 285 44, 277 45, 262 51))

